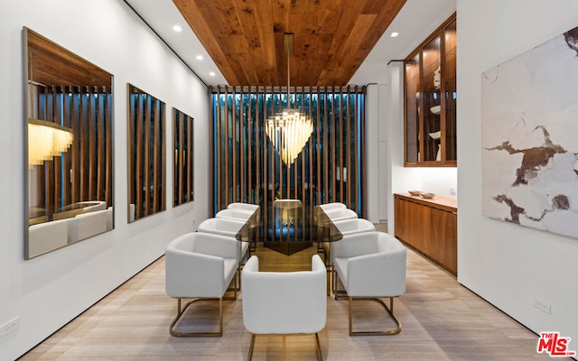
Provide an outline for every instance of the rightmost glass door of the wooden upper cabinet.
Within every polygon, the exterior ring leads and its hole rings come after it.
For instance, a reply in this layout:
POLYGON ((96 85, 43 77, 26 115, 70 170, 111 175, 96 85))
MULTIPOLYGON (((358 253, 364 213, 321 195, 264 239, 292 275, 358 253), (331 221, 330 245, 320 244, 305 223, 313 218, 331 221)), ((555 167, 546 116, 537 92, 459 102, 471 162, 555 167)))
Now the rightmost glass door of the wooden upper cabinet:
POLYGON ((456 21, 444 29, 444 94, 445 94, 445 157, 446 161, 457 161, 456 145, 456 21))

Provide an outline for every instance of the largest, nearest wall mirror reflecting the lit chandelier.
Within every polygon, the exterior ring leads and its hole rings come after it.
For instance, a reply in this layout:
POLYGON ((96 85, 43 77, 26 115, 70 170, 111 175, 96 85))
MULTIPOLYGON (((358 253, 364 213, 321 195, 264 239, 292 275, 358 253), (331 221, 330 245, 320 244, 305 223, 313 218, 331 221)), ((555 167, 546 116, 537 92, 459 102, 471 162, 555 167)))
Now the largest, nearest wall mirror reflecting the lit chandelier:
POLYGON ((113 75, 23 28, 24 258, 113 229, 113 75))

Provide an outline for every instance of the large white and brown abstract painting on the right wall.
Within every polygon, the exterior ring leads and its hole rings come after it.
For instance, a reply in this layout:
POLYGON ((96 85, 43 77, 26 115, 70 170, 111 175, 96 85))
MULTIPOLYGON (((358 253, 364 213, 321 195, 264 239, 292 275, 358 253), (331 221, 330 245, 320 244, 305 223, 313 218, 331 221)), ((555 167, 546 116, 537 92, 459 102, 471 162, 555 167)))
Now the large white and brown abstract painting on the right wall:
POLYGON ((578 237, 578 27, 481 74, 482 214, 578 237))

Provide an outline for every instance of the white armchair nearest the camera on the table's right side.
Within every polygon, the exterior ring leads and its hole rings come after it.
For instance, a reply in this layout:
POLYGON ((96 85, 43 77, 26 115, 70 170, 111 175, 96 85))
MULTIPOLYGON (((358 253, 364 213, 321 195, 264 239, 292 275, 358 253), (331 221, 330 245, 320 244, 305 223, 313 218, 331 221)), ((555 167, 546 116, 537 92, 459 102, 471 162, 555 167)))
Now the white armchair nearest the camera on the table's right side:
POLYGON ((401 323, 394 316, 394 298, 406 292, 406 246, 387 233, 365 232, 344 236, 332 244, 331 250, 334 273, 339 275, 350 301, 350 336, 399 333, 401 323), (389 298, 389 308, 381 298, 389 298), (397 328, 353 331, 351 311, 356 299, 378 301, 396 321, 397 328))

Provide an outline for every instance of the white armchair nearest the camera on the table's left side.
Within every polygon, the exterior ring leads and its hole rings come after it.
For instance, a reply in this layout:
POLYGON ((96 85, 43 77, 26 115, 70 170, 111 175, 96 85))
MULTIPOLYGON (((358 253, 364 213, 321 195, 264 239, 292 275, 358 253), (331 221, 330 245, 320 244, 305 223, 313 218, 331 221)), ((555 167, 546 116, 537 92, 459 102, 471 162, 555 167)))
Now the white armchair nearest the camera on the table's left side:
POLYGON ((177 316, 169 329, 172 336, 222 336, 223 300, 237 300, 238 241, 228 236, 194 232, 171 241, 165 252, 166 294, 177 299, 177 316), (235 279, 234 296, 225 299, 228 286, 235 279), (193 299, 182 309, 182 299, 193 299), (176 324, 195 301, 219 301, 219 331, 176 331, 176 324))

